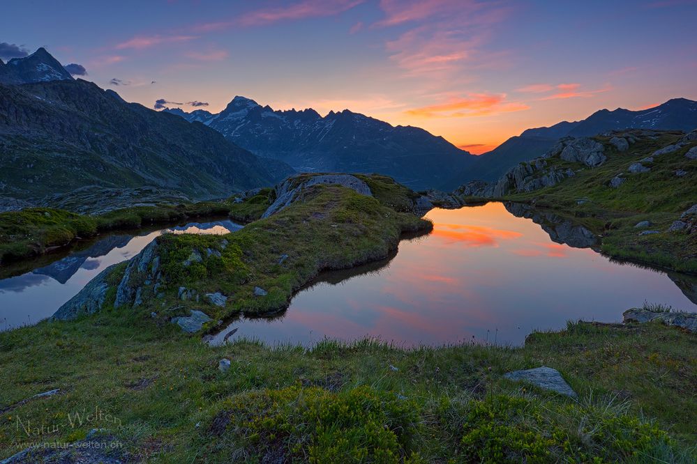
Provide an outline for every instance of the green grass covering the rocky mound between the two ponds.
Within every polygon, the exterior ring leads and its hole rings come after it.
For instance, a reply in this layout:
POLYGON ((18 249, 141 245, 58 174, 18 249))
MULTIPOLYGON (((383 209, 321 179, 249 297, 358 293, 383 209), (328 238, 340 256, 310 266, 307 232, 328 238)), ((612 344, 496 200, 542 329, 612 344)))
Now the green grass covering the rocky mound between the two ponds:
MULTIPOLYGON (((255 201, 255 197, 248 201, 255 201)), ((155 298, 153 289, 143 287, 145 304, 163 318, 172 316, 170 311, 162 311, 163 306, 176 307, 179 312, 199 308, 195 301, 179 301, 183 286, 199 295, 234 295, 223 308, 207 304, 204 312, 213 319, 239 312, 271 314, 285 309, 293 293, 322 270, 351 268, 385 258, 394 252, 403 233, 426 233, 432 227, 424 219, 396 212, 345 187, 310 187, 301 201, 235 233, 158 238, 162 273, 158 293, 164 295, 155 298), (202 255, 202 262, 185 265, 193 252, 202 255), (284 255, 287 257, 281 262, 284 255), (268 295, 255 296, 255 287, 268 295)))

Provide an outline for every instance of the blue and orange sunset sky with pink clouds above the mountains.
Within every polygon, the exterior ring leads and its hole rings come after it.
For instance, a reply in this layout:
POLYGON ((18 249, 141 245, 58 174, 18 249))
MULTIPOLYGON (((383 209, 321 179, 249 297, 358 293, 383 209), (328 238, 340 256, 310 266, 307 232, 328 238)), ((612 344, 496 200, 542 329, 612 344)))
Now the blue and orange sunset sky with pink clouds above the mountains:
POLYGON ((0 58, 45 47, 125 100, 351 109, 472 153, 529 127, 697 100, 697 0, 6 1, 0 58))

